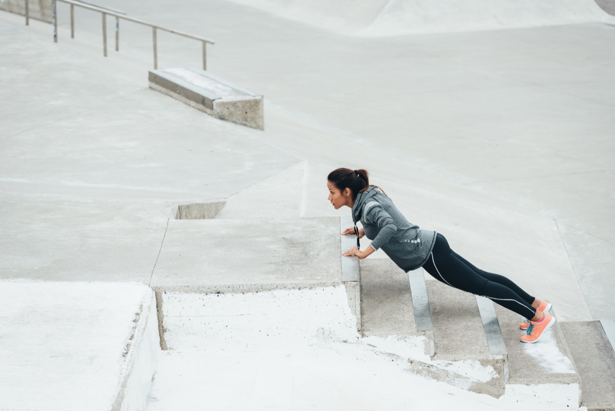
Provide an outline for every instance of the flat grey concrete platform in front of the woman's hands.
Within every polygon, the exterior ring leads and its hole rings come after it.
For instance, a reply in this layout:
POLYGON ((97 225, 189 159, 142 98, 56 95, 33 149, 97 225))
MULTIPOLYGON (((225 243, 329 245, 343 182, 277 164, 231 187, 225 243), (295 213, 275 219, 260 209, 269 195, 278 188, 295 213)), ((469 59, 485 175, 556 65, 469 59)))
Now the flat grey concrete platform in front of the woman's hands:
POLYGON ((341 281, 338 218, 170 220, 151 286, 255 292, 341 281))

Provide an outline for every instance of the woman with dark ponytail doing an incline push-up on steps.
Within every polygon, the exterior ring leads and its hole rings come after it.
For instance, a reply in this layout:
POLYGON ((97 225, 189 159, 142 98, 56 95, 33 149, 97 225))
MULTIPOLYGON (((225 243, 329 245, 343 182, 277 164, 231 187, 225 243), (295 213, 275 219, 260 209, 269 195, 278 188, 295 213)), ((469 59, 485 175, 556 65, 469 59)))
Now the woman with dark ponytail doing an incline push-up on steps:
POLYGON ((328 200, 336 210, 343 206, 352 209, 355 225, 342 234, 357 234, 357 247, 342 255, 362 259, 381 248, 406 272, 423 267, 451 287, 490 298, 527 319, 520 324, 526 330, 523 343, 536 343, 555 324, 549 302, 531 297, 504 276, 476 268, 451 250, 442 234, 409 223, 383 190, 370 185, 366 170, 334 170, 327 177, 327 187, 328 200), (357 228, 357 221, 363 228, 357 228), (371 244, 361 251, 359 239, 363 236, 371 239, 371 244))

